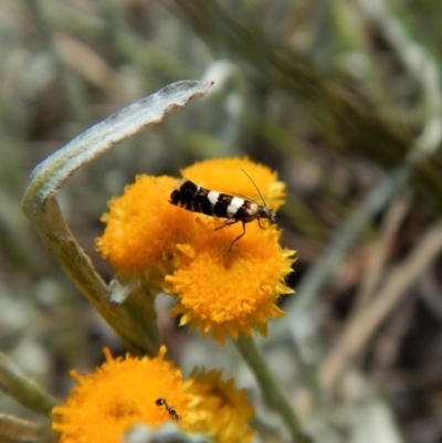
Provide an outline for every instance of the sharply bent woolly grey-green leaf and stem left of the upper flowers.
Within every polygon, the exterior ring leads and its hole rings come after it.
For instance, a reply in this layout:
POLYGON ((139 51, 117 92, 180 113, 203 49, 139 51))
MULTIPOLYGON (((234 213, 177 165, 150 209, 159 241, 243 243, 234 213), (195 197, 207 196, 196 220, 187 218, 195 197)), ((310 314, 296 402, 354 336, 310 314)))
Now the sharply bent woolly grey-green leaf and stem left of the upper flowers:
POLYGON ((159 348, 154 297, 130 296, 109 308, 109 291, 65 223, 55 194, 69 177, 117 143, 160 123, 212 83, 181 81, 115 113, 42 161, 31 173, 22 209, 55 261, 133 352, 156 356, 159 348))

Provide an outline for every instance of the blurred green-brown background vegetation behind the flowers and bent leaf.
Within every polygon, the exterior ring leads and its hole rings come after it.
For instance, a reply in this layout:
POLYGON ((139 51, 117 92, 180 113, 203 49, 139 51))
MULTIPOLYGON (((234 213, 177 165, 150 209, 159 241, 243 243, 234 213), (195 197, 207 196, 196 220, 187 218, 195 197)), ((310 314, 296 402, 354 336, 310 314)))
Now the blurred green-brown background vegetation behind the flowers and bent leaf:
MULTIPOLYGON (((282 240, 298 251, 283 306, 297 347, 276 325, 263 345, 306 429, 442 441, 441 17, 439 0, 0 0, 0 350, 61 398, 71 368, 124 350, 20 201, 33 167, 94 123, 170 82, 212 80, 207 98, 72 177, 59 202, 80 243, 108 281, 93 240, 137 173, 220 156, 271 166, 287 183, 282 240)), ((235 361, 158 309, 185 367, 235 361)), ((33 418, 3 395, 0 411, 33 418)))

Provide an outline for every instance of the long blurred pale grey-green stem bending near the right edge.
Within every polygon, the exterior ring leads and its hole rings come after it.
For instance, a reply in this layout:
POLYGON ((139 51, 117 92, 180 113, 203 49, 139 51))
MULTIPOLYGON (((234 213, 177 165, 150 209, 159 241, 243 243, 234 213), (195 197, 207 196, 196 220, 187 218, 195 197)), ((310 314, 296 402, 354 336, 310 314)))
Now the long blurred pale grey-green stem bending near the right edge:
MULTIPOLYGON (((394 4, 394 9, 388 2, 378 0, 358 0, 357 4, 375 21, 380 32, 394 48, 404 66, 420 83, 424 122, 421 134, 411 144, 403 165, 379 183, 362 204, 351 213, 327 251, 303 278, 297 288, 298 296, 293 298, 287 309, 287 317, 281 321, 281 325, 277 325, 285 326, 291 330, 295 340, 299 336, 296 331, 296 316, 311 312, 326 281, 341 263, 354 241, 367 224, 406 188, 413 169, 417 168, 419 171, 419 162, 435 154, 442 140, 441 73, 436 57, 428 46, 422 44, 422 40, 415 39, 415 33, 410 30, 409 23, 406 27, 404 21, 400 20, 400 15, 406 12, 406 9, 401 8, 399 3, 394 4), (400 13, 398 13, 399 11, 400 13)), ((312 324, 314 323, 312 321, 312 324)), ((313 329, 308 338, 304 334, 304 340, 296 340, 299 342, 301 350, 303 350, 303 342, 311 345, 319 342, 313 329)), ((307 352, 302 354, 307 355, 307 352)), ((312 352, 309 354, 312 355, 312 352)), ((323 390, 318 386, 316 377, 316 362, 312 365, 308 362, 308 358, 302 358, 299 361, 304 367, 303 372, 309 375, 311 392, 316 404, 319 404, 323 390)))

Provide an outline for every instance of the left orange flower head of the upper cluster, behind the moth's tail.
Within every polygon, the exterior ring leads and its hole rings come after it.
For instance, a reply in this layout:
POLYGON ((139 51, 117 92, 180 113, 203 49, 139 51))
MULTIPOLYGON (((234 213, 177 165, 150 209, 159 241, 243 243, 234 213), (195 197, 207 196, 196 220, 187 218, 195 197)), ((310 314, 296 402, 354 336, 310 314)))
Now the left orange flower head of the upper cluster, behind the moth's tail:
POLYGON ((109 201, 102 217, 106 231, 95 246, 125 276, 165 273, 177 243, 191 234, 194 215, 168 202, 176 184, 171 177, 137 176, 123 197, 109 201))

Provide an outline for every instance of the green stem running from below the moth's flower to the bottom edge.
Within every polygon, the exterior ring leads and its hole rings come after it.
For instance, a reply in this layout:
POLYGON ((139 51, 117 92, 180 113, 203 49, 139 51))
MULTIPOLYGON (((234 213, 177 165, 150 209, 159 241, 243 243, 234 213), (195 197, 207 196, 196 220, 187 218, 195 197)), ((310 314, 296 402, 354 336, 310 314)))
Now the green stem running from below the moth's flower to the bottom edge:
POLYGON ((269 367, 267 360, 264 358, 263 352, 253 337, 246 337, 240 334, 238 340, 233 340, 233 342, 256 377, 265 402, 270 408, 278 412, 292 435, 293 442, 311 443, 312 440, 304 434, 301 421, 284 388, 275 377, 274 371, 269 367))

